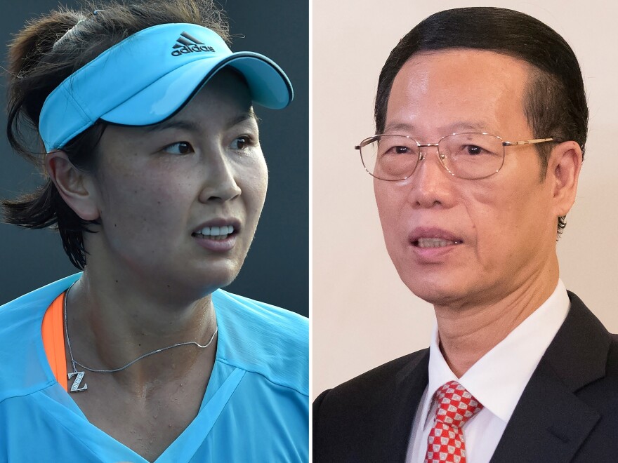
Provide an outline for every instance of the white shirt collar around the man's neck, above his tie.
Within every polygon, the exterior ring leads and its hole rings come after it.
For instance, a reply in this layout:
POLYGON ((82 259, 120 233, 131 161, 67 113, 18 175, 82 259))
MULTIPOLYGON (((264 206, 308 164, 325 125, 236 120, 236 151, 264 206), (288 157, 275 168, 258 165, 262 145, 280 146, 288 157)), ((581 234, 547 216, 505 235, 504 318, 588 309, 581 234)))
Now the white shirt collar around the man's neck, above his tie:
MULTIPOLYGON (((548 299, 461 378, 455 376, 442 356, 438 326, 434 325, 429 347, 429 382, 421 416, 428 418, 435 391, 442 384, 457 381, 485 409, 508 422, 541 357, 565 321, 569 307, 565 285, 558 280, 548 299)), ((424 426, 429 422, 432 420, 423 420, 424 426)))

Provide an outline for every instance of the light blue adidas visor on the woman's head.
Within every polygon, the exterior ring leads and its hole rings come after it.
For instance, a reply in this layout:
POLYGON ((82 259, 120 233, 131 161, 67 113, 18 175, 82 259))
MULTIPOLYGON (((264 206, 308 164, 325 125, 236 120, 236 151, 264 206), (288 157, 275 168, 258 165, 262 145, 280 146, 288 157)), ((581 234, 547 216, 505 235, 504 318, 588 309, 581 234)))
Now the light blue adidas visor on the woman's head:
POLYGON ((195 24, 144 29, 71 74, 45 100, 39 133, 62 149, 96 121, 148 126, 173 116, 219 69, 244 76, 251 98, 282 109, 294 92, 282 69, 259 53, 232 53, 216 32, 195 24))

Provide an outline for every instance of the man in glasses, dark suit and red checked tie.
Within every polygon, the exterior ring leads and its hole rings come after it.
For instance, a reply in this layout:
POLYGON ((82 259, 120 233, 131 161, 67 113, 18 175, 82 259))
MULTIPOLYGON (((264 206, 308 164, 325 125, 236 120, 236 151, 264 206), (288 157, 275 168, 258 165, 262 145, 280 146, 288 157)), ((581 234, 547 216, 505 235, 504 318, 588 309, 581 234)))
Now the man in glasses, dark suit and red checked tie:
POLYGON ((588 108, 530 16, 442 11, 390 53, 362 161, 429 349, 324 391, 320 462, 616 462, 618 340, 559 279, 588 108))

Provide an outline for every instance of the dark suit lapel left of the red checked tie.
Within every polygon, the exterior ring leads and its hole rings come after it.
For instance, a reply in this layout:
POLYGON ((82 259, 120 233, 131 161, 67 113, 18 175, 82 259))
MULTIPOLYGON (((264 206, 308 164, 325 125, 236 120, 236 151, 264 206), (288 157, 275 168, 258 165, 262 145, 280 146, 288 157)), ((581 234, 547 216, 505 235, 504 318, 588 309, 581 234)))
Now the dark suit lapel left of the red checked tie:
POLYGON ((428 383, 429 349, 420 351, 414 362, 409 362, 395 377, 393 427, 388 448, 388 462, 405 462, 412 434, 416 408, 421 402, 428 383))

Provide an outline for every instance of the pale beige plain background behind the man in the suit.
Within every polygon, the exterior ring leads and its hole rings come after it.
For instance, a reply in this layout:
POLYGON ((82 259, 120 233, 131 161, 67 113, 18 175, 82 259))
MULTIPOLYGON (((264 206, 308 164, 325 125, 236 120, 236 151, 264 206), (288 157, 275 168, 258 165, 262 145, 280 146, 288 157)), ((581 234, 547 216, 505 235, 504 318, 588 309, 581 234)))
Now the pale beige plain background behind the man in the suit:
POLYGON ((433 309, 401 283, 383 244, 372 179, 353 145, 374 133, 380 69, 431 13, 502 6, 563 35, 590 106, 586 159, 558 243, 561 277, 618 332, 618 6, 591 1, 313 0, 313 396, 428 345, 433 309))

